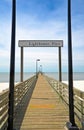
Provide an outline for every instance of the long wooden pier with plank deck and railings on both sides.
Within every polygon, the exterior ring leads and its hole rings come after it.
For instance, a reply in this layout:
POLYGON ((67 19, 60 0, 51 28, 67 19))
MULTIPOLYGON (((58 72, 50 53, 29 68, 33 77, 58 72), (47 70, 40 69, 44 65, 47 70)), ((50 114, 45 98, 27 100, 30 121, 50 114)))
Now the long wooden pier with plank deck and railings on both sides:
MULTIPOLYGON (((0 93, 0 130, 8 126, 9 90, 0 93)), ((14 87, 15 130, 65 130, 69 121, 68 86, 39 74, 14 87)), ((84 130, 84 92, 74 89, 74 114, 84 130)))

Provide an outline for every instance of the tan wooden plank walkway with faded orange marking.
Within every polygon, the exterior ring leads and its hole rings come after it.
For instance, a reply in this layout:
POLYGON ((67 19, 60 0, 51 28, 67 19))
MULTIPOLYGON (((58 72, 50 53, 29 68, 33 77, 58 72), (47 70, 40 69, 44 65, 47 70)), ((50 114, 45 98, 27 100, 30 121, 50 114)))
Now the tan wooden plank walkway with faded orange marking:
POLYGON ((68 110, 44 76, 39 75, 20 130, 64 130, 68 110))

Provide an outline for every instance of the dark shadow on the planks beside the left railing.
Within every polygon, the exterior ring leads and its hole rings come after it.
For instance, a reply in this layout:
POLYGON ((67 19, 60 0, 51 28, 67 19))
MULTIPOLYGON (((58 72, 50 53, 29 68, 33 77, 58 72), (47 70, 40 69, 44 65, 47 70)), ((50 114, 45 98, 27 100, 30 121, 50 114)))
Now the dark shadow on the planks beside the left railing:
POLYGON ((22 121, 23 121, 24 116, 25 116, 27 106, 29 104, 29 101, 31 99, 31 96, 32 96, 32 93, 33 93, 33 90, 34 90, 34 87, 35 87, 35 84, 36 83, 34 83, 32 85, 32 87, 29 88, 28 92, 24 96, 24 98, 21 101, 20 105, 16 109, 16 112, 15 112, 15 115, 14 115, 15 116, 14 117, 14 129, 16 129, 16 130, 20 130, 22 121))

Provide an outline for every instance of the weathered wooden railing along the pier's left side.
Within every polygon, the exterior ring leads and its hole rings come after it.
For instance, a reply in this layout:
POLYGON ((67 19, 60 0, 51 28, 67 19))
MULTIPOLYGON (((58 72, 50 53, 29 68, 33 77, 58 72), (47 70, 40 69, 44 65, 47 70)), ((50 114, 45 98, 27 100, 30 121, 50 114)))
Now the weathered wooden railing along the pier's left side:
MULTIPOLYGON (((30 87, 36 82, 36 76, 29 78, 28 80, 18 83, 14 87, 14 114, 19 106, 21 100, 24 98, 30 87)), ((8 102, 9 102, 9 90, 5 90, 0 93, 0 130, 7 128, 8 120, 8 102)))

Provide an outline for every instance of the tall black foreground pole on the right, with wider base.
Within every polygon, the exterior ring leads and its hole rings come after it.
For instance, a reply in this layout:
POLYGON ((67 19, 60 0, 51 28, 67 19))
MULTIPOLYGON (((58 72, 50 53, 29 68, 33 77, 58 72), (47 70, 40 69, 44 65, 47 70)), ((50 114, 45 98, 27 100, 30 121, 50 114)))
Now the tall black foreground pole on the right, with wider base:
POLYGON ((72 36, 71 36, 71 0, 68 0, 68 78, 69 78, 69 118, 72 126, 74 120, 73 68, 72 68, 72 36))

